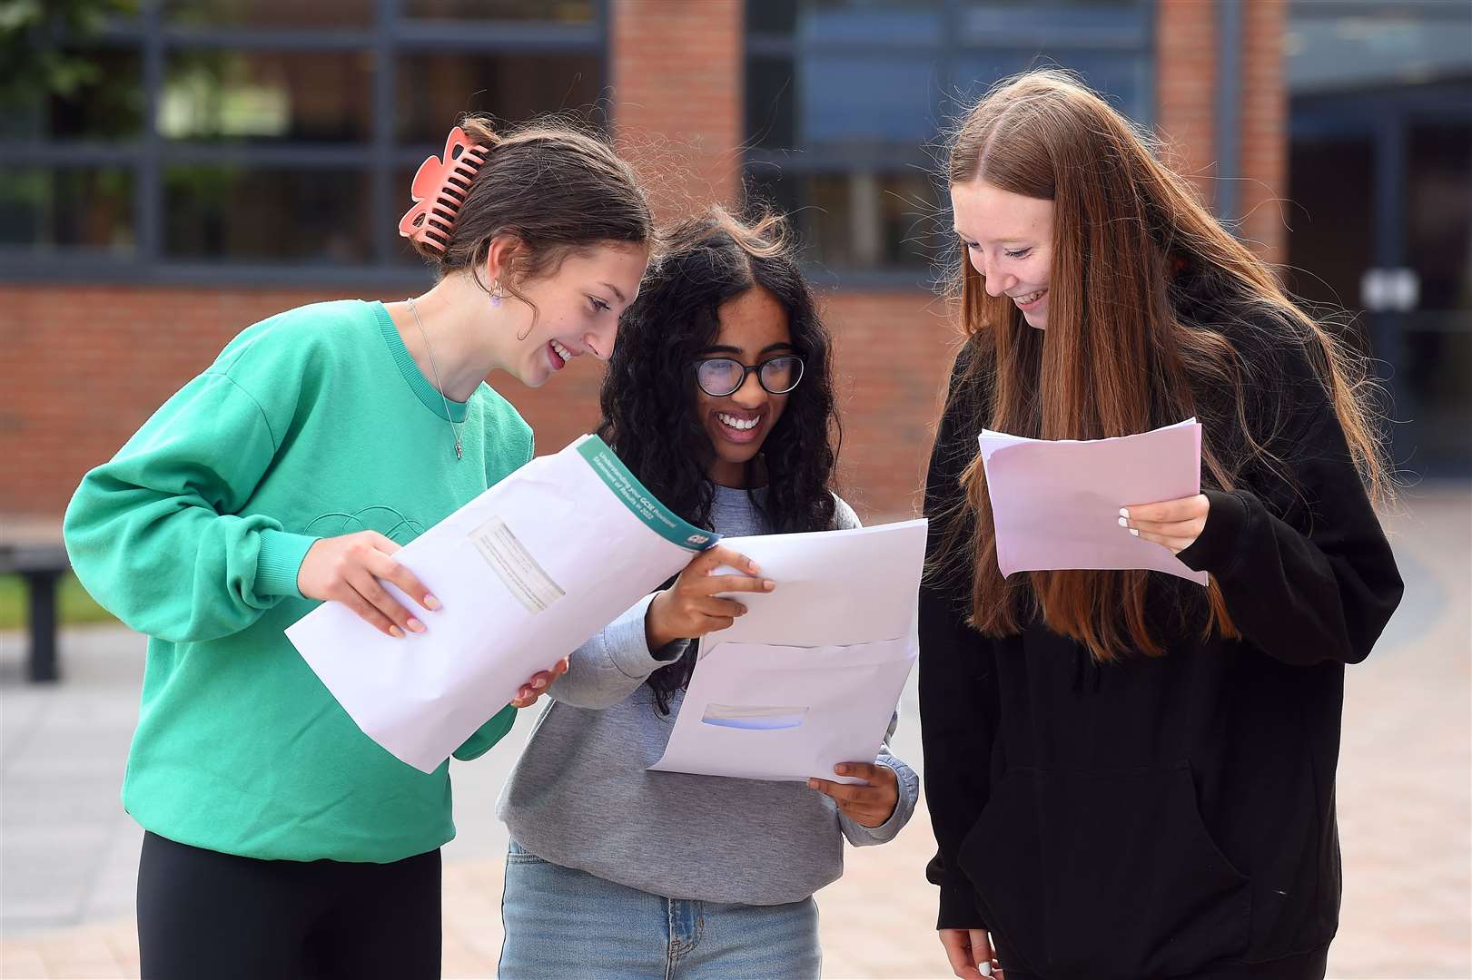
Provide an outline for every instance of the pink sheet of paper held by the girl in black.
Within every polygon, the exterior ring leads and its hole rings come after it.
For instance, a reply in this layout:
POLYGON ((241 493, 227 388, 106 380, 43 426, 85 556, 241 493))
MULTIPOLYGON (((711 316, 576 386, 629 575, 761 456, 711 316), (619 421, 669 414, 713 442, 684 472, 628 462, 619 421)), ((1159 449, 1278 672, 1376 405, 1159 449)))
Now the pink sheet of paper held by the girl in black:
POLYGON ((979 437, 1002 575, 1054 568, 1148 568, 1207 584, 1170 549, 1119 525, 1119 509, 1201 493, 1201 425, 1050 441, 979 437))

